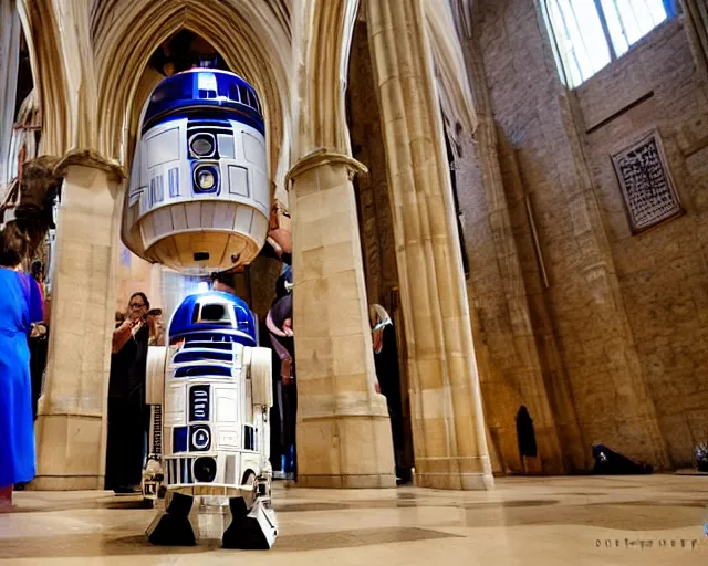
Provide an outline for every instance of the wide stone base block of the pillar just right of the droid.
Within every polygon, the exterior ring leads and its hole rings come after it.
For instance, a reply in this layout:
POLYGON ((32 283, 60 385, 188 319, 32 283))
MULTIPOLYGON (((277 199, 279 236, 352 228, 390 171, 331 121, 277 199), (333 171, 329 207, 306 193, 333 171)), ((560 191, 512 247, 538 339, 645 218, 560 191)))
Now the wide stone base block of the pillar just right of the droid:
POLYGON ((388 416, 298 422, 299 488, 395 488, 388 416))

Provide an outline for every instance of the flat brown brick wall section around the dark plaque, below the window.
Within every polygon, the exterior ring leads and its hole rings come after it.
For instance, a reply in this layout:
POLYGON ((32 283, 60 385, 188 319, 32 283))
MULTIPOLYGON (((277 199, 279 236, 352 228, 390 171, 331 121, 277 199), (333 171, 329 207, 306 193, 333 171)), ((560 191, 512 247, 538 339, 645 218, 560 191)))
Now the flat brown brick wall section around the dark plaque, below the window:
POLYGON ((708 82, 683 19, 654 30, 576 94, 644 377, 674 464, 689 465, 708 434, 708 82), (686 213, 633 235, 610 156, 653 129, 686 213))

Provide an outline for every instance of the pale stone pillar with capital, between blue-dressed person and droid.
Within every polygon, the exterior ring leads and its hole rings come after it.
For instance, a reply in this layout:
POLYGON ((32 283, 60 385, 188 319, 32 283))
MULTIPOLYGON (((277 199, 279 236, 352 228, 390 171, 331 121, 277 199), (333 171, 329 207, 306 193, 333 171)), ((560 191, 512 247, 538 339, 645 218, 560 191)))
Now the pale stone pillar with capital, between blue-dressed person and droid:
POLYGON ((53 259, 44 394, 34 490, 103 489, 122 171, 70 154, 53 259))

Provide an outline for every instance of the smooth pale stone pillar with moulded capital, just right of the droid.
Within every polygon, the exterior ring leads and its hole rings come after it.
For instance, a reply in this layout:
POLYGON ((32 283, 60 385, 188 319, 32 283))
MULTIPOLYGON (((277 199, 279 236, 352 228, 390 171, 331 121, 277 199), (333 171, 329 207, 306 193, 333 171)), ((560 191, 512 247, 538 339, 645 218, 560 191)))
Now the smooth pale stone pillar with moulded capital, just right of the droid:
POLYGON ((288 174, 293 219, 298 485, 396 485, 374 355, 352 178, 364 167, 315 151, 288 174))

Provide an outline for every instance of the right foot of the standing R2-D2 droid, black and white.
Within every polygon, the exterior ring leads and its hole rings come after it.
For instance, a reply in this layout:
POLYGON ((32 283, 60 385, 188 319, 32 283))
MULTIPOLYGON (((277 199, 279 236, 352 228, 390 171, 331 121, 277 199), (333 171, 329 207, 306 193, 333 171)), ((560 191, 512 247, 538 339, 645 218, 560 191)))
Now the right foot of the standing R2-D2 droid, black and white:
POLYGON ((242 497, 229 500, 233 520, 223 533, 223 548, 269 551, 278 536, 278 523, 272 509, 256 501, 250 513, 242 497))

